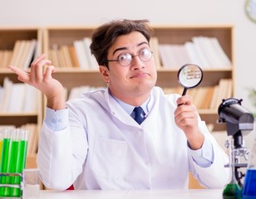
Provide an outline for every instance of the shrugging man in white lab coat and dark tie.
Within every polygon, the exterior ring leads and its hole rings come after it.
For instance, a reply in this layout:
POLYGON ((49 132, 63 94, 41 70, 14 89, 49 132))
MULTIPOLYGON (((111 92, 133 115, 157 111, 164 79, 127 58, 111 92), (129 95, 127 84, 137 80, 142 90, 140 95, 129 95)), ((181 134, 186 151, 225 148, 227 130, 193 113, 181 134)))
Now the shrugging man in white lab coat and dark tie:
POLYGON ((185 189, 189 172, 204 187, 222 188, 229 182, 224 167, 229 158, 200 120, 191 97, 164 95, 155 86, 152 33, 147 20, 97 28, 91 52, 107 89, 67 103, 45 55, 32 62, 30 73, 10 66, 19 80, 47 97, 37 153, 46 187, 185 189), (143 110, 139 116, 135 107, 143 110))

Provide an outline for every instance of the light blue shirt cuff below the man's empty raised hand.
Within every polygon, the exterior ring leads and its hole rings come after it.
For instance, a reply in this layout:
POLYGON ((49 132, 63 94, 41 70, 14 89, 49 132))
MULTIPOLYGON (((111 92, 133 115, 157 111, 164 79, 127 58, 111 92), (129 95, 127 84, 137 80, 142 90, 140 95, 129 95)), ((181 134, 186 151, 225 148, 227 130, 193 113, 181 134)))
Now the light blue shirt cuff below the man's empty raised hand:
POLYGON ((68 124, 68 109, 53 110, 47 107, 44 119, 47 127, 52 131, 65 129, 68 124))

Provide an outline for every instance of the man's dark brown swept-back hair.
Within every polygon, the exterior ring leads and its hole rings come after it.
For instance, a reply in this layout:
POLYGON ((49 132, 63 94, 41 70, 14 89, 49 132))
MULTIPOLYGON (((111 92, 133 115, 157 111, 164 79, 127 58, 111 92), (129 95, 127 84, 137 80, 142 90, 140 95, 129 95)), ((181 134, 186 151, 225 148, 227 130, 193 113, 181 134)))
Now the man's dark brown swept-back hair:
POLYGON ((91 36, 91 54, 96 57, 99 66, 107 66, 107 53, 115 43, 116 38, 121 35, 130 34, 130 32, 140 32, 150 42, 150 37, 154 31, 149 26, 149 21, 144 20, 115 20, 107 22, 92 32, 91 36))

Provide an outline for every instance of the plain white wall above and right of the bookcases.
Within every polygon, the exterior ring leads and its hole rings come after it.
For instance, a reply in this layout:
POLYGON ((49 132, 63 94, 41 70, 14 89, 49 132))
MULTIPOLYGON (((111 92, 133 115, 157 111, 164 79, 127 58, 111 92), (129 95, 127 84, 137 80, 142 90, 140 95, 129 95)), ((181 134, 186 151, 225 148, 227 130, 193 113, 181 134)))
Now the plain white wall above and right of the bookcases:
POLYGON ((245 0, 0 0, 0 27, 96 25, 114 18, 148 18, 153 24, 234 24, 234 97, 244 99, 244 107, 253 110, 247 88, 256 88, 256 23, 246 17, 244 2, 245 0))

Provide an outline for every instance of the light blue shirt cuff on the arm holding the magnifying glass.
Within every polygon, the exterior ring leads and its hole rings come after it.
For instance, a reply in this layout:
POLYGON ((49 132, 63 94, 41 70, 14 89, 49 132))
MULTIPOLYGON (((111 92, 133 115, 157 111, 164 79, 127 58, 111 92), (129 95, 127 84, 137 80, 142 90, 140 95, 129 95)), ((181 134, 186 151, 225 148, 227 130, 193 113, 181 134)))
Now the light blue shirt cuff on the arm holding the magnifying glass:
POLYGON ((193 150, 189 147, 189 150, 194 163, 200 167, 209 167, 214 162, 213 145, 207 138, 204 138, 204 143, 201 148, 193 150))

